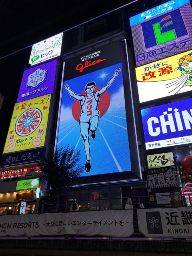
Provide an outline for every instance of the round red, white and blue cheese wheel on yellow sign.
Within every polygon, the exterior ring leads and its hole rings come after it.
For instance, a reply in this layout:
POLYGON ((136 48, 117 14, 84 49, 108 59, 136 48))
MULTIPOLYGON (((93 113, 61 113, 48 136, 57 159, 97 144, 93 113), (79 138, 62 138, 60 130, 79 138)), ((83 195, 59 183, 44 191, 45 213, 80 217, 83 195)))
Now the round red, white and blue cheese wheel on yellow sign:
POLYGON ((32 134, 40 125, 41 120, 41 110, 38 108, 29 108, 18 117, 15 124, 15 131, 19 136, 32 134))

